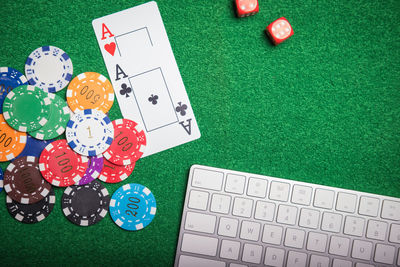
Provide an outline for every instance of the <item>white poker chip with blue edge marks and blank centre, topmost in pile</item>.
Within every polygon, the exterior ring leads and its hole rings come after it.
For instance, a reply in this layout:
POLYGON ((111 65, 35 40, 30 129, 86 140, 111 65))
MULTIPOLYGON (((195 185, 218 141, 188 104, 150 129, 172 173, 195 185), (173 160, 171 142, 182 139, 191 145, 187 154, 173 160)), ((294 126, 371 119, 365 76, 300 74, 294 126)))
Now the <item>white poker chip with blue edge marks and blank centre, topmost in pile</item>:
POLYGON ((42 46, 26 60, 25 74, 30 85, 47 93, 64 89, 72 79, 73 66, 67 53, 55 46, 42 46))

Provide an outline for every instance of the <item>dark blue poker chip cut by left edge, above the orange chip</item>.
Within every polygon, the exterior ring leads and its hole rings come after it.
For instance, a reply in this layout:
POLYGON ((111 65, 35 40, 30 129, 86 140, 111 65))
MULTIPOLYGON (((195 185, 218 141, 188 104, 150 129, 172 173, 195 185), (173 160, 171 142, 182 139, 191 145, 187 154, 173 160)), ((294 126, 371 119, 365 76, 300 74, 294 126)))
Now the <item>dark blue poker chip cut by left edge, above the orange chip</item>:
POLYGON ((0 67, 0 114, 3 113, 3 102, 7 94, 20 85, 28 84, 25 76, 16 69, 0 67))

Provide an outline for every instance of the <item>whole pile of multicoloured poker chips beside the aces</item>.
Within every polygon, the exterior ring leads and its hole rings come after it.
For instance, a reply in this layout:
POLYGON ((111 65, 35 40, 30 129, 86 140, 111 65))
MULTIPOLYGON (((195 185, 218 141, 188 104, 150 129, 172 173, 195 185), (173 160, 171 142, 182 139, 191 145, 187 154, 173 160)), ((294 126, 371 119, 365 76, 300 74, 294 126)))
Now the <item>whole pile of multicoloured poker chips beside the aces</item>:
POLYGON ((0 68, 0 161, 10 162, 4 173, 0 169, 0 191, 4 187, 12 217, 45 219, 56 203, 55 186, 65 187, 62 210, 76 225, 94 225, 110 210, 122 229, 146 227, 156 213, 147 187, 125 184, 110 197, 99 181, 127 179, 146 147, 136 122, 109 119, 109 80, 95 72, 73 78, 70 57, 54 46, 34 50, 25 74, 0 68), (67 86, 65 101, 58 92, 67 86))

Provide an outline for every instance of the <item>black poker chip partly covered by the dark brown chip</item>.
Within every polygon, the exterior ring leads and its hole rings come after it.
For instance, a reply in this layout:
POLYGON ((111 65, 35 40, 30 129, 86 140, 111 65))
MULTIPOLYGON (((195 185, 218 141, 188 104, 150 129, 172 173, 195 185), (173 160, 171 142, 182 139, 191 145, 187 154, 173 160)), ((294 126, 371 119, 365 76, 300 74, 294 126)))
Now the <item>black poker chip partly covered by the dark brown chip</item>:
POLYGON ((56 203, 54 189, 42 200, 33 204, 21 204, 9 196, 6 198, 7 210, 17 221, 23 223, 38 223, 50 215, 56 203))

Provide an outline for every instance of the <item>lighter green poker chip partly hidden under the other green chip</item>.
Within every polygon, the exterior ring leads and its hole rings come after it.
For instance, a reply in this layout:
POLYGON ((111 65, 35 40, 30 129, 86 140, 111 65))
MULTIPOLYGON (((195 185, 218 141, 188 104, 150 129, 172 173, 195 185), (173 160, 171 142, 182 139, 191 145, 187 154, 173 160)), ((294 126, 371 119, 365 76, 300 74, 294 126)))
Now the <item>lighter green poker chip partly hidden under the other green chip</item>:
POLYGON ((36 131, 29 132, 29 134, 36 139, 49 140, 56 138, 65 131, 65 127, 70 119, 70 109, 67 102, 58 95, 52 95, 50 104, 50 116, 47 123, 36 131))

